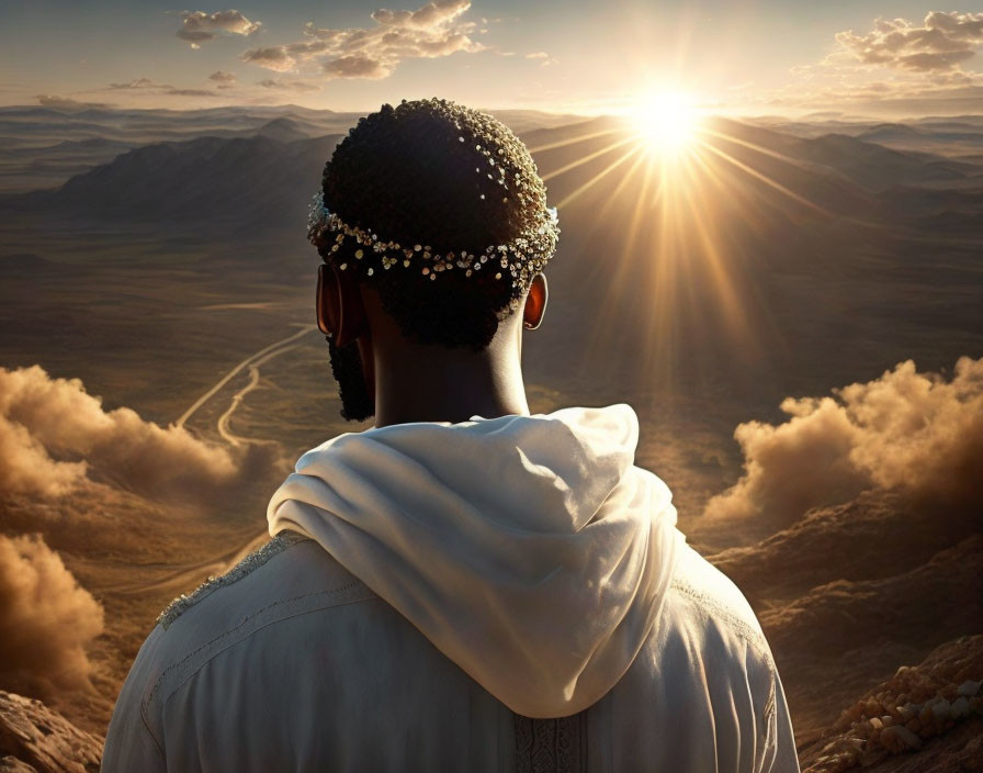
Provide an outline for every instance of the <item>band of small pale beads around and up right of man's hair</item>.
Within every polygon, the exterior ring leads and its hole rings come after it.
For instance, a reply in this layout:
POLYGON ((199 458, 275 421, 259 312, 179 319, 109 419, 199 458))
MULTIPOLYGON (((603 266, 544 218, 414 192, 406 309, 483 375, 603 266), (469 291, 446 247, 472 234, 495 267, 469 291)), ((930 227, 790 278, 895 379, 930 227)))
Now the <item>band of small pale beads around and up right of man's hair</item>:
MULTIPOLYGON (((511 284, 511 301, 501 312, 501 316, 507 316, 518 307, 522 291, 556 250, 560 237, 556 208, 545 206, 545 191, 538 179, 534 180, 539 183, 538 190, 531 184, 535 167, 531 158, 529 164, 521 161, 522 156, 528 158, 521 142, 490 115, 475 112, 465 116, 459 107, 444 100, 422 100, 417 104, 452 122, 460 132, 460 145, 453 143, 453 153, 465 157, 473 155, 475 172, 484 182, 475 188, 479 200, 495 195, 491 191, 497 184, 502 203, 508 202, 509 197, 516 197, 520 205, 524 204, 528 220, 521 232, 507 243, 488 245, 481 253, 444 251, 432 248, 422 239, 396 240, 392 234, 380 235, 374 229, 346 223, 337 213, 328 211, 324 193, 318 191, 310 204, 307 238, 325 260, 330 259, 342 271, 354 268, 364 277, 395 268, 417 271, 436 281, 438 275, 447 271, 465 277, 482 271, 481 276, 491 276, 495 281, 511 284), (465 135, 470 135, 470 139, 465 135), (517 163, 516 159, 520 160, 517 163)), ((395 111, 398 114, 408 107, 404 102, 395 111)))

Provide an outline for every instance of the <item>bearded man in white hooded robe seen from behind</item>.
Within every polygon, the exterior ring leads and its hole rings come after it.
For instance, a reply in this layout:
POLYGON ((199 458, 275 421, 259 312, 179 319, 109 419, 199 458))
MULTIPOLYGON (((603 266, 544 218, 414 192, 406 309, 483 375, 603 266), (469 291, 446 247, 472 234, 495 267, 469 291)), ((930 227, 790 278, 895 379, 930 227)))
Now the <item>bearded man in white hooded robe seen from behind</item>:
POLYGON ((309 237, 342 414, 273 539, 179 600, 105 771, 798 771, 768 645, 634 466, 624 404, 529 415, 558 228, 490 116, 403 102, 339 144, 309 237))

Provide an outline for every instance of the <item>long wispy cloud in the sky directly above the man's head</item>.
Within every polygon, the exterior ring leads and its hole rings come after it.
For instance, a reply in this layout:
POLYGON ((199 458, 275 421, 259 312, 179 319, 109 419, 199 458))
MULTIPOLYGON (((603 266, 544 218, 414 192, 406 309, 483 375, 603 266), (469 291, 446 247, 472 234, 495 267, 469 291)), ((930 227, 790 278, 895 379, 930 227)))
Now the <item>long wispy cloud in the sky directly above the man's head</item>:
POLYGON ((302 40, 250 48, 241 58, 275 72, 385 78, 405 59, 485 51, 486 46, 472 37, 476 25, 461 19, 470 8, 470 0, 434 0, 415 11, 383 8, 372 13, 375 24, 368 27, 317 27, 307 22, 302 40))

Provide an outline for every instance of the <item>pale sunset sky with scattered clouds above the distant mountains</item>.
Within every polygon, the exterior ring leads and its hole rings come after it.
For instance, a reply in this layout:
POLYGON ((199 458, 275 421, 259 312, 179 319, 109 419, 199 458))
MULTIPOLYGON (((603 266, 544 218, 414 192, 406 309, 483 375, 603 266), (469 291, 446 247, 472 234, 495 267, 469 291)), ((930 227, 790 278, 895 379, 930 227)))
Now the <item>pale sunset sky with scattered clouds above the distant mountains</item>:
POLYGON ((919 0, 0 0, 0 104, 983 113, 983 11, 919 0))

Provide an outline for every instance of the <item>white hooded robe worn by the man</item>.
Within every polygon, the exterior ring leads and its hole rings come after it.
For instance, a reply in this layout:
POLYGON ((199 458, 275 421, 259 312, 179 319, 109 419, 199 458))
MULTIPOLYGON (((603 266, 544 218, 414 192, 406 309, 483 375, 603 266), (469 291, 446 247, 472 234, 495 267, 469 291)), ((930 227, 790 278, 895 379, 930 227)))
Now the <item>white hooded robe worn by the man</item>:
POLYGON ((798 771, 757 619, 637 433, 622 404, 307 452, 279 536, 147 639, 103 770, 798 771))

